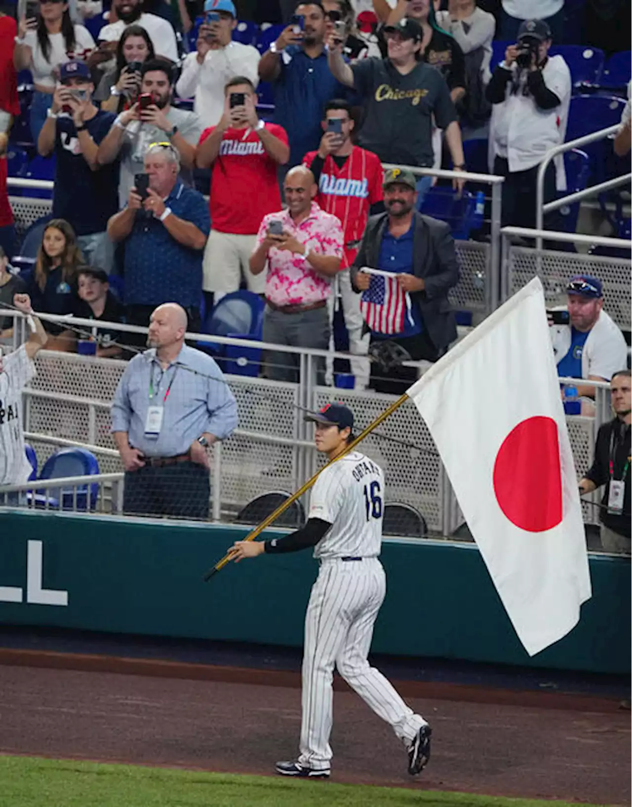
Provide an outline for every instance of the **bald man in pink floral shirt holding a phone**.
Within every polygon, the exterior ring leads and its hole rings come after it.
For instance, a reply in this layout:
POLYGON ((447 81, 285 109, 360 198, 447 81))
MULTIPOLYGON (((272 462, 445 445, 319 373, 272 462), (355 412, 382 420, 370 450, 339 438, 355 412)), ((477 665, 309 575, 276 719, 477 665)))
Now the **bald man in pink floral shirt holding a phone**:
MULTIPOLYGON (((266 272, 263 341, 295 348, 329 348, 327 299, 343 266, 345 239, 335 215, 314 201, 318 187, 303 165, 288 171, 283 182, 287 210, 262 220, 250 257, 253 274, 266 272)), ((312 362, 317 383, 324 383, 324 361, 312 362)), ((299 380, 299 353, 271 350, 268 378, 299 380)))

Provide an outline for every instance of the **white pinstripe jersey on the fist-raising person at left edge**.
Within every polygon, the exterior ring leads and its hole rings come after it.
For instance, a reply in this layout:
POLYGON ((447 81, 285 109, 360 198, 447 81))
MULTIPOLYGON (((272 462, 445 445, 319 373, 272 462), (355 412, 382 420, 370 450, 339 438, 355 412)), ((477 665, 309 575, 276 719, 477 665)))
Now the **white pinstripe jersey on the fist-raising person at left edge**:
POLYGON ((36 374, 24 345, 2 357, 0 373, 0 485, 25 483, 31 464, 24 453, 22 389, 36 374))

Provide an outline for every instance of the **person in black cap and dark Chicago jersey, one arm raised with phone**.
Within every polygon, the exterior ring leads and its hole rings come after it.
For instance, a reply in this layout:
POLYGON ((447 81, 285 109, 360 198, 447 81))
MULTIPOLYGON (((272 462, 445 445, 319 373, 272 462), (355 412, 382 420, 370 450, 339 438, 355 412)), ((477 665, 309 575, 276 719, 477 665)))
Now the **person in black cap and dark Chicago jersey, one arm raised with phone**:
MULTIPOLYGON (((419 23, 404 17, 386 27, 384 35, 388 57, 374 56, 354 65, 345 64, 341 44, 329 38, 329 69, 339 82, 358 91, 366 111, 358 143, 382 162, 430 168, 434 116, 437 127, 445 132, 454 170, 462 171, 465 161, 457 113, 441 73, 420 61, 419 23)), ((462 184, 458 182, 459 190, 462 184)), ((422 193, 428 186, 428 177, 417 182, 422 193)))

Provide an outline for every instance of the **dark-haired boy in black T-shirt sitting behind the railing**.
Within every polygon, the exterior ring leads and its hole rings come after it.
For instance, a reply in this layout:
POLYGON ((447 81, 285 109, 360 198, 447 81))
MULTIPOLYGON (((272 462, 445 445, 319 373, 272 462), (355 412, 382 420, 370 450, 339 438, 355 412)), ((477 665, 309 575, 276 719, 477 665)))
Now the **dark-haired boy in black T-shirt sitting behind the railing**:
MULTIPOLYGON (((101 322, 124 322, 123 305, 110 291, 107 274, 95 266, 82 266, 78 272, 76 316, 82 320, 101 322)), ((123 341, 123 334, 108 328, 93 328, 93 337, 98 338, 97 356, 117 358, 123 353, 116 342, 123 341)), ((91 351, 90 351, 91 352, 91 351)))

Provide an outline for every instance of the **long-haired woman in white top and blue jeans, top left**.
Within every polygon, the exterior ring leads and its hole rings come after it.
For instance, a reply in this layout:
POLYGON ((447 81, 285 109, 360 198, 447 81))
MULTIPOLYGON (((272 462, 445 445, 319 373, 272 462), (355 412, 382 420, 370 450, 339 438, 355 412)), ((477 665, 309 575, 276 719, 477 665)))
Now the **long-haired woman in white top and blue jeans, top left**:
POLYGON ((37 142, 52 105, 58 65, 72 59, 87 60, 94 48, 90 31, 73 25, 68 3, 40 0, 36 18, 19 21, 13 62, 16 70, 31 70, 35 92, 31 103, 31 136, 37 142))

